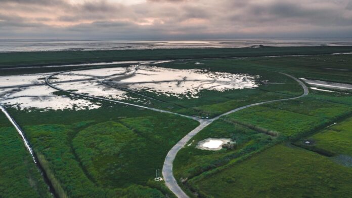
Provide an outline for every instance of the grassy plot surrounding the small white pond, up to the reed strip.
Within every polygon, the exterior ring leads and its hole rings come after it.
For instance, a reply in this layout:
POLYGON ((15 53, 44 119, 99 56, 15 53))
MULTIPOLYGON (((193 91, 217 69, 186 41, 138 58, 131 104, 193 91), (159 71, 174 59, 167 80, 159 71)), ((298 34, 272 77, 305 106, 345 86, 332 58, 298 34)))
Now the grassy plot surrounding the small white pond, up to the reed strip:
POLYGON ((275 139, 235 123, 215 121, 192 138, 191 145, 180 150, 173 164, 174 176, 179 181, 182 178, 193 178, 205 171, 226 165, 237 157, 258 151, 275 142, 275 139), (196 148, 197 143, 206 138, 229 138, 236 141, 236 148, 218 151, 196 148))

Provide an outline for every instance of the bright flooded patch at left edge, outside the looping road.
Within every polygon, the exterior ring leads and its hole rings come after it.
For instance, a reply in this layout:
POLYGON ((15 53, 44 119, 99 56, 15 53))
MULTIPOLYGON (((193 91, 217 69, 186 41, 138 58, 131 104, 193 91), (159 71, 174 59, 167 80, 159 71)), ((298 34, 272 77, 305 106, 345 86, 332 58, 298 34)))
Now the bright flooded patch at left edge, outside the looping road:
POLYGON ((100 103, 92 103, 90 100, 75 99, 67 96, 57 96, 54 90, 46 85, 21 87, 8 90, 6 95, 0 98, 2 104, 13 106, 20 110, 31 110, 34 108, 46 111, 48 109, 95 109, 100 103))

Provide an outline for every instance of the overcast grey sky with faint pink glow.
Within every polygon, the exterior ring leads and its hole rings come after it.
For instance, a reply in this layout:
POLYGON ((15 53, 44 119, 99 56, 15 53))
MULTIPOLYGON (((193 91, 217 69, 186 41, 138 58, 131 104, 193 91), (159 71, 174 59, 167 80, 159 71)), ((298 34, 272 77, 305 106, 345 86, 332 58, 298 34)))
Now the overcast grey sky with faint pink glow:
POLYGON ((352 37, 352 0, 0 0, 0 38, 352 37))

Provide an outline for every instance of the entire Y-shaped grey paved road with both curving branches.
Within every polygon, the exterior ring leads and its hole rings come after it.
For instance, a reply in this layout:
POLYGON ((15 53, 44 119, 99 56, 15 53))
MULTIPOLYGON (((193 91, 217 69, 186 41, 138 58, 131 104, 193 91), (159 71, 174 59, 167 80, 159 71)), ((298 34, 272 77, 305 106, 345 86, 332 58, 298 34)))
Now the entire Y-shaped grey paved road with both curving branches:
MULTIPOLYGON (((74 69, 76 70, 76 69, 74 69)), ((77 69, 77 70, 81 70, 80 69, 77 69)), ((61 71, 61 72, 57 72, 57 73, 54 73, 54 74, 51 74, 50 76, 48 76, 45 80, 46 84, 56 90, 59 90, 59 91, 63 91, 63 92, 67 92, 67 93, 70 93, 70 94, 74 94, 74 95, 78 95, 78 96, 83 96, 83 97, 87 97, 87 98, 93 98, 93 99, 98 99, 98 100, 105 100, 105 101, 109 101, 109 102, 114 102, 114 103, 119 103, 119 104, 125 104, 125 105, 129 105, 129 106, 135 106, 135 107, 139 107, 139 108, 145 108, 145 109, 149 109, 149 110, 153 110, 153 111, 158 111, 158 112, 163 112, 163 113, 171 113, 171 114, 175 114, 175 115, 180 115, 180 116, 183 116, 183 117, 188 117, 188 118, 191 118, 193 120, 196 120, 200 123, 200 125, 195 128, 194 130, 192 130, 190 133, 188 133, 185 137, 183 137, 177 144, 175 144, 171 150, 169 150, 169 152, 167 153, 166 157, 165 157, 165 161, 164 161, 164 165, 163 165, 163 168, 162 168, 162 175, 164 177, 164 180, 165 180, 165 184, 166 186, 178 197, 181 197, 181 198, 184 198, 184 197, 188 197, 187 194, 181 189, 181 187, 179 186, 179 184, 177 183, 176 179, 173 177, 173 173, 172 173, 172 163, 177 155, 177 153, 179 152, 179 150, 184 147, 187 142, 192 139, 197 133, 199 133, 202 129, 204 129, 206 126, 208 126, 209 124, 211 124, 212 122, 218 120, 218 118, 222 117, 222 116, 225 116, 225 115, 228 115, 230 113, 233 113, 233 112, 236 112, 236 111, 239 111, 239 110, 242 110, 242 109, 245 109, 245 108, 248 108, 248 107, 252 107, 252 106, 257 106, 257 105, 261 105, 261 104, 267 104, 267 103, 272 103, 272 102, 278 102, 278 101, 286 101, 286 100, 293 100, 293 99, 297 99, 297 98, 300 98, 300 97, 303 97, 303 96, 306 96, 308 93, 309 93, 309 89, 304 85, 303 82, 301 82, 300 80, 298 80, 296 77, 292 76, 292 75, 289 75, 289 74, 286 74, 286 73, 282 73, 284 75, 287 75, 291 78, 293 78, 293 80, 297 81, 303 88, 304 90, 304 93, 300 96, 297 96, 297 97, 293 97, 293 98, 286 98, 286 99, 278 99, 278 100, 271 100, 271 101, 266 101, 266 102, 258 102, 258 103, 254 103, 254 104, 249 104, 249 105, 246 105, 246 106, 242 106, 242 107, 239 107, 239 108, 236 108, 236 109, 233 109, 231 111, 228 111, 226 113, 223 113, 221 115, 218 115, 214 118, 211 118, 211 119, 201 119, 199 117, 196 117, 196 116, 189 116, 189 115, 183 115, 183 114, 179 114, 179 113, 174 113, 174 112, 171 112, 171 111, 166 111, 166 110, 161 110, 161 109, 156 109, 156 108, 152 108, 152 107, 146 107, 146 106, 142 106, 142 105, 137 105, 137 104, 131 104, 131 103, 127 103, 127 102, 121 102, 121 101, 118 101, 118 100, 113 100, 113 99, 107 99, 107 98, 101 98, 101 97, 96 97, 96 96, 90 96, 90 95, 85 95, 85 94, 80 94, 80 93, 76 93, 76 92, 71 92, 71 91, 68 91, 68 90, 64 90, 64 89, 61 89, 61 88, 58 88, 54 85, 52 85, 49 80, 51 77, 55 76, 55 75, 58 75, 58 74, 61 74, 61 73, 64 73, 64 72, 69 72, 69 71, 72 71, 72 70, 68 70, 68 71, 61 71)))

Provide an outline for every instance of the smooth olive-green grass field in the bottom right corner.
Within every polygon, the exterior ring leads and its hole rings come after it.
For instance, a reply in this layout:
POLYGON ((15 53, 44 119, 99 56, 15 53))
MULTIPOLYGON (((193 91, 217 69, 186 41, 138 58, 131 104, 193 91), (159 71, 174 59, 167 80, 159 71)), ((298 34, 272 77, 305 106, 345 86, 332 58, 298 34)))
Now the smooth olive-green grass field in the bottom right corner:
POLYGON ((281 144, 191 182, 208 197, 349 197, 352 169, 281 144))

